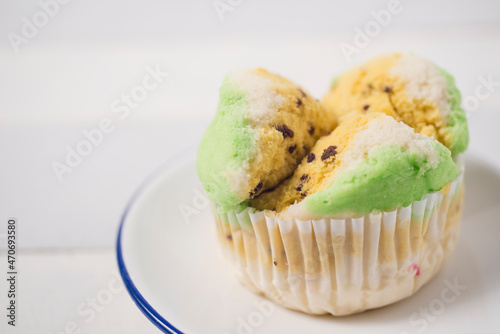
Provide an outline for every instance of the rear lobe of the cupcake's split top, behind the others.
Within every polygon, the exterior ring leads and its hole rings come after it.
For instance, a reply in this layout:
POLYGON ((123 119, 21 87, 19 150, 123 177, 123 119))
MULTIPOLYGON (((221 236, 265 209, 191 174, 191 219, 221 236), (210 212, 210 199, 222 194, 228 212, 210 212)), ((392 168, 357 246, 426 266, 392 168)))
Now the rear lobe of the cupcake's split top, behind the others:
POLYGON ((454 156, 463 153, 469 142, 453 77, 416 55, 382 56, 342 74, 324 103, 340 120, 355 113, 386 113, 437 139, 454 156))

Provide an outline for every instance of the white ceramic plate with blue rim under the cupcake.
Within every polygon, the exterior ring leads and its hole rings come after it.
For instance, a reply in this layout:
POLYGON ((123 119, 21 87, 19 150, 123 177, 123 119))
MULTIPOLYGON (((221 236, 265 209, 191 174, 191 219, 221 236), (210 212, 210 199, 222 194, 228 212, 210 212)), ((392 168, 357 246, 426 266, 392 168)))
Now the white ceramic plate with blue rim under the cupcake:
POLYGON ((269 305, 238 283, 216 244, 194 157, 194 150, 185 152, 144 183, 118 235, 118 263, 127 289, 164 332, 500 331, 500 172, 474 156, 466 157, 462 235, 443 270, 411 298, 342 318, 269 305))

